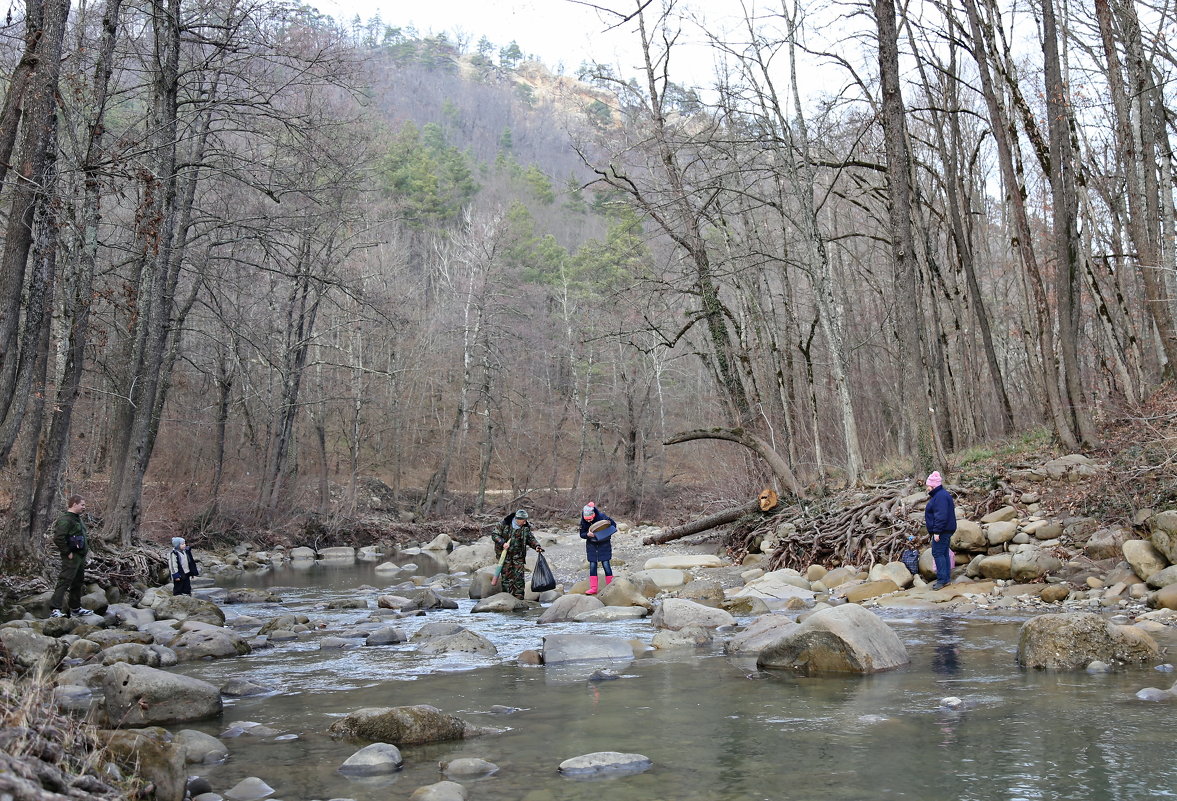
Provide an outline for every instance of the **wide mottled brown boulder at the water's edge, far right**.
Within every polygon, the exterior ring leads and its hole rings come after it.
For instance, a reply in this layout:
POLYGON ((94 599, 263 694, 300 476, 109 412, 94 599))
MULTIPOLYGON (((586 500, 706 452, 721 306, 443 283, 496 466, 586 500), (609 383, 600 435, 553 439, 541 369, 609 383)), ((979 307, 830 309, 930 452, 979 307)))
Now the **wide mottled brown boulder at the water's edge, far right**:
POLYGON ((1018 635, 1017 661, 1023 667, 1082 670, 1096 660, 1139 665, 1159 659, 1156 641, 1131 626, 1116 626, 1090 612, 1039 615, 1018 635))

